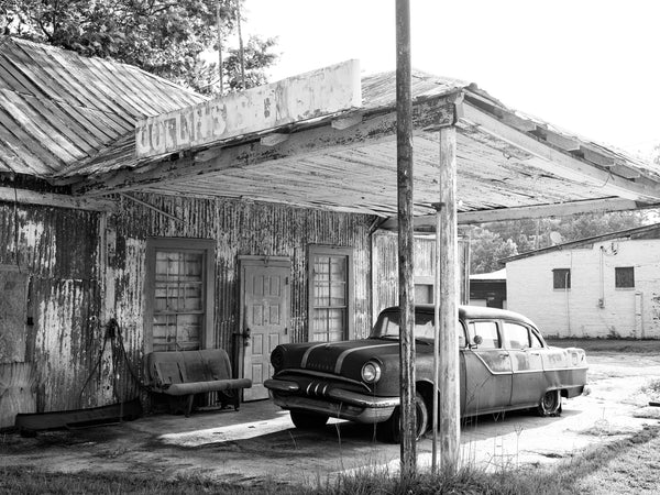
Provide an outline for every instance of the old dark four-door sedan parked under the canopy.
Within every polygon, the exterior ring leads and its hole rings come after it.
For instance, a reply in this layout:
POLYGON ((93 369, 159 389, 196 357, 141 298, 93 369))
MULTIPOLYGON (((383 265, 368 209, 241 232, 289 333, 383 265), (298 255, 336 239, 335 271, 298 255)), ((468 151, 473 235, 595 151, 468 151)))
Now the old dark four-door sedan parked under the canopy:
MULTIPOLYGON (((526 317, 494 308, 461 306, 461 416, 534 408, 561 413, 561 398, 582 394, 582 349, 548 346, 526 317)), ((399 310, 385 309, 369 339, 278 345, 265 382, 275 404, 298 428, 320 428, 329 417, 382 424, 382 437, 399 438, 399 310)), ((417 437, 429 426, 432 405, 433 307, 417 306, 417 437)))

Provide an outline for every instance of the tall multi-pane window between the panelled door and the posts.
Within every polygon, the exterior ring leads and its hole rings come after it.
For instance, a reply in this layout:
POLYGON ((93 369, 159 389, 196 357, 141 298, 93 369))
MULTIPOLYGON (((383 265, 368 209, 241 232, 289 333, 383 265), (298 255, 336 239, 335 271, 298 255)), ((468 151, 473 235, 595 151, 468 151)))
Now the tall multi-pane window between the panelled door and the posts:
POLYGON ((349 339, 353 321, 352 250, 309 248, 309 340, 349 339))

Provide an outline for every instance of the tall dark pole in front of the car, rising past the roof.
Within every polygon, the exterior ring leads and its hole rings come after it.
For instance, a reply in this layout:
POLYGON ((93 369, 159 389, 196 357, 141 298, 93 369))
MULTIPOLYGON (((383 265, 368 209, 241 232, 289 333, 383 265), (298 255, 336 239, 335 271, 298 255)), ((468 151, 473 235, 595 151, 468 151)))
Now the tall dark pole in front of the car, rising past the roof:
POLYGON ((415 414, 415 285, 413 280, 413 99, 410 95, 410 3, 396 0, 396 164, 400 308, 400 476, 417 470, 415 414))

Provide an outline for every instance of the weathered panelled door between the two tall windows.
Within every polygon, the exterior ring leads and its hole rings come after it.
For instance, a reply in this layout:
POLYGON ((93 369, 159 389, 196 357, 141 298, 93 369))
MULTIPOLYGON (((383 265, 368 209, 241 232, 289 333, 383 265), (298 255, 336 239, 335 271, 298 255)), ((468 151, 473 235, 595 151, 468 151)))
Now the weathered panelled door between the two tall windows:
POLYGON ((273 375, 271 352, 288 342, 290 261, 273 257, 241 258, 241 334, 243 376, 252 388, 243 400, 268 397, 264 381, 273 375))

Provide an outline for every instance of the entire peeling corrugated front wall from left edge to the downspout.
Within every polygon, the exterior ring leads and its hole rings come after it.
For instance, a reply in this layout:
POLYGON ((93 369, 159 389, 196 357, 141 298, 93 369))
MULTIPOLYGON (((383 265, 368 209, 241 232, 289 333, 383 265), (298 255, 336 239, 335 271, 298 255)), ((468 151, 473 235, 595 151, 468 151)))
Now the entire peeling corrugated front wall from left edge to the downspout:
POLYGON ((240 320, 239 255, 292 260, 289 336, 293 342, 307 340, 309 244, 353 249, 353 327, 356 338, 369 334, 373 217, 239 200, 135 197, 182 221, 127 197, 114 215, 0 202, 0 265, 29 274, 25 321, 31 324, 25 324, 22 361, 35 372, 37 411, 139 395, 125 363, 113 373, 110 341, 100 367, 95 365, 107 320, 114 316, 129 361, 142 373, 145 254, 153 237, 215 241, 212 342, 230 353, 240 320))

